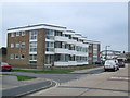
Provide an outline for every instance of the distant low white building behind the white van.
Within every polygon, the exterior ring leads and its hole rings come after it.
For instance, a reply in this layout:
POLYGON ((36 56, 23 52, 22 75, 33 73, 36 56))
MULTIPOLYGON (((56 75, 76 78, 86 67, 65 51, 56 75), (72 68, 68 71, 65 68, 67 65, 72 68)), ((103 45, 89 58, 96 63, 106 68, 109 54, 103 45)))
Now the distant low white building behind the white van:
POLYGON ((102 60, 105 60, 106 58, 107 59, 115 59, 120 54, 121 54, 121 51, 103 50, 103 51, 101 51, 101 59, 102 60))

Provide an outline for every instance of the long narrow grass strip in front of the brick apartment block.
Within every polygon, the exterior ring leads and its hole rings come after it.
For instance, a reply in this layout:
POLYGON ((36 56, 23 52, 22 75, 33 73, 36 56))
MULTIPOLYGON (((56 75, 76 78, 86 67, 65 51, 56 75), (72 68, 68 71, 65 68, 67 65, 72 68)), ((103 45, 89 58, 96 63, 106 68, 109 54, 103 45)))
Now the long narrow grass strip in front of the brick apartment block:
POLYGON ((14 72, 30 72, 30 73, 70 73, 74 70, 13 70, 14 72))

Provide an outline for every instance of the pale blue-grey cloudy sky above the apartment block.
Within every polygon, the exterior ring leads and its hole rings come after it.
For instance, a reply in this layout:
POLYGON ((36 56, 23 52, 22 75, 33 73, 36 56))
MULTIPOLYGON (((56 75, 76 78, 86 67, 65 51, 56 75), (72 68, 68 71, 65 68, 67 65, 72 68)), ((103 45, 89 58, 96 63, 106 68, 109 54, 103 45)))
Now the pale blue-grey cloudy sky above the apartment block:
MULTIPOLYGON (((1 16, 0 16, 1 19, 1 16)), ((31 24, 65 26, 101 41, 109 50, 128 51, 127 2, 6 2, 2 3, 0 47, 6 46, 6 29, 31 24)))

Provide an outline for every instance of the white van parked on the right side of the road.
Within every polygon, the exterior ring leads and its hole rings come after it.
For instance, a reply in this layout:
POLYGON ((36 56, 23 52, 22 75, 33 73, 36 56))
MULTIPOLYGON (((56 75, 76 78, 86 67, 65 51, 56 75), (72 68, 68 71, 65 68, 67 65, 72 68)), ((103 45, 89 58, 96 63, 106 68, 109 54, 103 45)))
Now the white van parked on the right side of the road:
POLYGON ((104 71, 117 71, 119 70, 119 65, 116 60, 106 60, 104 64, 104 71))

